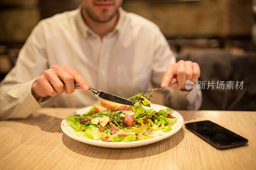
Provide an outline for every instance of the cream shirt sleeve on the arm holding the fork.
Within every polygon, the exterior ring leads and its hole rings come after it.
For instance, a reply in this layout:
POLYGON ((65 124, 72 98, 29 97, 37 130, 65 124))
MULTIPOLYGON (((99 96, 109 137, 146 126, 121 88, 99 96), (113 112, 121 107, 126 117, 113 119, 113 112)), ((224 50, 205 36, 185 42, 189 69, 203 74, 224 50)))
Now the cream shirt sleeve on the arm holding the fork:
MULTIPOLYGON (((160 87, 168 64, 176 63, 176 57, 160 30, 155 38, 155 48, 151 81, 154 87, 160 87)), ((176 91, 171 88, 162 90, 164 105, 173 109, 198 110, 202 104, 202 92, 196 87, 197 84, 190 91, 176 91)))

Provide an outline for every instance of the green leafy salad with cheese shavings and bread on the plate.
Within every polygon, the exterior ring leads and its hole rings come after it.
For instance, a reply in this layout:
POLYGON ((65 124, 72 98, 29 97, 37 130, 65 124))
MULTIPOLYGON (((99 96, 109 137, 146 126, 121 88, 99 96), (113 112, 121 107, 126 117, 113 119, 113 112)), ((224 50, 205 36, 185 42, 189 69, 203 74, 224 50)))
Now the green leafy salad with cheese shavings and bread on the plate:
POLYGON ((104 142, 128 142, 162 136, 171 131, 172 125, 177 122, 177 117, 168 114, 172 110, 169 107, 159 111, 147 109, 151 102, 144 93, 129 99, 134 99, 137 104, 126 106, 102 100, 83 115, 67 117, 66 122, 74 129, 76 136, 104 142))

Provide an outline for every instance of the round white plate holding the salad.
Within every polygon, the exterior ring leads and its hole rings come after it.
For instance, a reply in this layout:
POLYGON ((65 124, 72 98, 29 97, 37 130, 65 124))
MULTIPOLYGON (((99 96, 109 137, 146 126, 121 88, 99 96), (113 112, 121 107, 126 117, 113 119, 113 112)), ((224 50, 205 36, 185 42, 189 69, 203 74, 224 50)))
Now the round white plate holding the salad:
MULTIPOLYGON (((77 110, 76 114, 84 114, 84 112, 88 112, 91 108, 92 108, 92 106, 84 107, 82 109, 77 110)), ((156 111, 159 111, 159 110, 165 109, 166 107, 162 106, 162 105, 151 104, 151 108, 153 108, 156 111)), ((72 139, 75 139, 77 141, 80 141, 80 142, 83 142, 86 144, 92 144, 95 146, 102 146, 102 147, 108 147, 108 148, 129 148, 129 147, 142 146, 142 145, 146 145, 146 144, 152 144, 154 142, 157 142, 157 141, 163 140, 167 137, 170 137, 173 134, 175 134, 176 132, 178 132, 183 125, 183 117, 175 110, 171 110, 168 113, 171 113, 171 115, 174 117, 178 117, 177 122, 172 125, 172 130, 169 133, 167 133, 163 136, 159 136, 159 137, 155 137, 155 138, 151 138, 151 139, 139 140, 139 141, 130 141, 130 142, 96 141, 96 140, 92 140, 89 138, 87 139, 87 138, 75 136, 75 132, 73 131, 73 129, 71 127, 67 126, 68 123, 66 122, 65 119, 62 120, 60 126, 61 126, 62 131, 66 135, 68 135, 72 139)))

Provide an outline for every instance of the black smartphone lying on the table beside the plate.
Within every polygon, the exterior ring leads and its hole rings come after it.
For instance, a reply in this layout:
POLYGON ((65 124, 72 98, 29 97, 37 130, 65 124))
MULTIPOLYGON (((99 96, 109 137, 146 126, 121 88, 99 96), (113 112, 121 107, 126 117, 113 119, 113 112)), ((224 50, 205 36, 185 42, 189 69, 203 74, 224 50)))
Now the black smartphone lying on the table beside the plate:
POLYGON ((185 127, 218 148, 230 148, 248 143, 248 139, 211 121, 186 123, 185 127))

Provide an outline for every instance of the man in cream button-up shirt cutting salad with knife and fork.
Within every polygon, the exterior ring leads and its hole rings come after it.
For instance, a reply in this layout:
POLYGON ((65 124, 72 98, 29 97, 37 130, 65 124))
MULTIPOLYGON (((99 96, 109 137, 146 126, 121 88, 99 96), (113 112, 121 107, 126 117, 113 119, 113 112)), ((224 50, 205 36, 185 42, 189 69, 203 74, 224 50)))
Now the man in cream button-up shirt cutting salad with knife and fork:
POLYGON ((198 64, 175 63, 159 28, 121 4, 81 0, 78 9, 40 21, 1 82, 0 118, 25 118, 41 106, 92 105, 99 99, 86 92, 88 85, 128 98, 144 92, 150 80, 167 87, 175 78, 178 83, 166 88, 168 106, 198 109, 201 91, 184 86, 196 83, 198 64))

